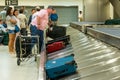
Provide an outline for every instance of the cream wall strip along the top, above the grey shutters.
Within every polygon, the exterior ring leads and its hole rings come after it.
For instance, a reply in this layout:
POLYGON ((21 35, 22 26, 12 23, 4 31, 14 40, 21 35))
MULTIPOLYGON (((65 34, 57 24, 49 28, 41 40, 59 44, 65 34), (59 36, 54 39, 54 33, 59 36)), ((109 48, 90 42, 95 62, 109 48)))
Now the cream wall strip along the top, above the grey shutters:
MULTIPOLYGON (((5 0, 0 0, 0 6, 5 5, 5 0)), ((18 0, 18 5, 36 6, 57 5, 57 6, 78 6, 79 10, 83 9, 83 0, 18 0)))

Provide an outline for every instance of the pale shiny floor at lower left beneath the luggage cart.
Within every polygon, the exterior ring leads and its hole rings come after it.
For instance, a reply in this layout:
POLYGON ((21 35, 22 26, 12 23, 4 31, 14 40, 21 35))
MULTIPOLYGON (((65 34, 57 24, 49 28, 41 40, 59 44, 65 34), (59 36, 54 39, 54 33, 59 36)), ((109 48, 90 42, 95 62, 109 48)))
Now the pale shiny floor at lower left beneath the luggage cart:
POLYGON ((0 46, 0 80, 37 80, 34 58, 17 65, 17 58, 9 55, 7 46, 0 46))

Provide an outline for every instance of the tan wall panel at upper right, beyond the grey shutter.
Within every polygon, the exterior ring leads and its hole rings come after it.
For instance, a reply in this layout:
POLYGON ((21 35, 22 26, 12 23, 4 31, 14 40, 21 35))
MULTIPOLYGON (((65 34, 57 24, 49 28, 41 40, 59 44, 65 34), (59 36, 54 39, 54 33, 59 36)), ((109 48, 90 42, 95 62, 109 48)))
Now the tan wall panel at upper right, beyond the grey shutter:
POLYGON ((110 18, 110 4, 108 0, 84 0, 85 21, 105 21, 110 18))

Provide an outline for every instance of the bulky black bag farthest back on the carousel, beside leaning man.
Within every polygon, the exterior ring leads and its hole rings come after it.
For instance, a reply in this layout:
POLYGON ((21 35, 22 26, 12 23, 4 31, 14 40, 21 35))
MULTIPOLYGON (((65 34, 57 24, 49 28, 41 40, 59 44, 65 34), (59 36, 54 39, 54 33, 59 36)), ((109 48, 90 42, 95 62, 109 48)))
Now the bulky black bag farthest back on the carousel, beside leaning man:
POLYGON ((55 39, 66 35, 66 27, 52 26, 47 30, 47 36, 55 39))

